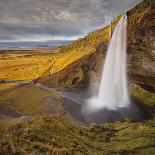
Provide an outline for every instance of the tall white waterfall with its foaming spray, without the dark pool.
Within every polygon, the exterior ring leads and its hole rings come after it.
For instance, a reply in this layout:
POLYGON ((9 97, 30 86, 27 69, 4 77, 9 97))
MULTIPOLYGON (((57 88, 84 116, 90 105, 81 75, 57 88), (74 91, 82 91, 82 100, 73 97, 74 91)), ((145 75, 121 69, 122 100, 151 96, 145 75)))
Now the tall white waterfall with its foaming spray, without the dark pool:
POLYGON ((126 75, 127 16, 117 24, 107 51, 98 96, 87 101, 91 111, 107 108, 116 110, 129 105, 126 75))

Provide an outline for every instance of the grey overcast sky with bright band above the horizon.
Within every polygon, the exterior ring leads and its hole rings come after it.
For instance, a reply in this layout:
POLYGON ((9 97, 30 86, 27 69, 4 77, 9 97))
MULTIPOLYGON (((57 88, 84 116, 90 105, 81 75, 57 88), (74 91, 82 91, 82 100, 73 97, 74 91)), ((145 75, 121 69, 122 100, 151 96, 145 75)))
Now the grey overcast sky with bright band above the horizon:
POLYGON ((0 42, 75 40, 141 0, 0 0, 0 42))

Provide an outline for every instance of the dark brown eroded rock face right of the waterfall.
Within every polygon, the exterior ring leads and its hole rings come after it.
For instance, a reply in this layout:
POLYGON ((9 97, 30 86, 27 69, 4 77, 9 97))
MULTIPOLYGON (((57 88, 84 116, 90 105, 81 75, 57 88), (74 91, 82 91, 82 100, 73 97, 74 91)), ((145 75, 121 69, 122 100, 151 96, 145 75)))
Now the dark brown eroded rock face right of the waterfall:
POLYGON ((129 79, 155 88, 155 3, 143 1, 127 15, 129 79))

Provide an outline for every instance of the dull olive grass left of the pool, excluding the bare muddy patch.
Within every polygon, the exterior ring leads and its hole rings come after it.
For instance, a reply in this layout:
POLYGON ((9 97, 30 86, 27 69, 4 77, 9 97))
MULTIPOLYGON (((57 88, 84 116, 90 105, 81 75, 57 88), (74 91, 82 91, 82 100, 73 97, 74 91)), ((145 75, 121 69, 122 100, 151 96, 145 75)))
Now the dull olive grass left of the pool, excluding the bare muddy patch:
MULTIPOLYGON (((53 110, 62 110, 61 106, 46 104, 45 99, 52 97, 57 99, 58 96, 40 88, 31 85, 16 88, 0 95, 0 107, 8 106, 9 109, 22 115, 33 115, 36 113, 48 112, 53 110)), ((5 110, 4 110, 5 111, 5 110)))

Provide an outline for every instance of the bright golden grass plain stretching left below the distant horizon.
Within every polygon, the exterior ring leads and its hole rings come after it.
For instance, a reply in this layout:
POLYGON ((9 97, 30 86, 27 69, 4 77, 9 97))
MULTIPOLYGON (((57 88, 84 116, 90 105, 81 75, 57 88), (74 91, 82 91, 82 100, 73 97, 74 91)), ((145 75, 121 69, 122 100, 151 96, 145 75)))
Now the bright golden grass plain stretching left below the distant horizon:
POLYGON ((87 52, 68 51, 53 53, 47 51, 12 52, 0 58, 0 79, 33 80, 40 77, 50 68, 50 73, 56 73, 79 59, 87 52))

